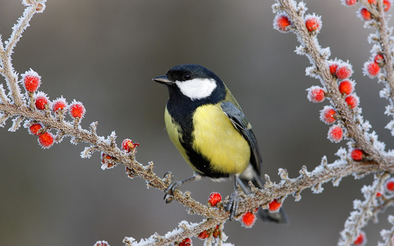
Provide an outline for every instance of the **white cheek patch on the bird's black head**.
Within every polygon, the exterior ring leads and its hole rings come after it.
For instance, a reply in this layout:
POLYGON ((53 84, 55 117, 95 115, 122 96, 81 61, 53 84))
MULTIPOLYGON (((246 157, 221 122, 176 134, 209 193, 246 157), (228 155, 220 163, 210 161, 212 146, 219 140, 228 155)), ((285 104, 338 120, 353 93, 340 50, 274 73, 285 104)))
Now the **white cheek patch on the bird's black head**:
POLYGON ((187 81, 176 81, 178 88, 182 94, 194 100, 209 97, 216 88, 213 79, 192 79, 187 81))

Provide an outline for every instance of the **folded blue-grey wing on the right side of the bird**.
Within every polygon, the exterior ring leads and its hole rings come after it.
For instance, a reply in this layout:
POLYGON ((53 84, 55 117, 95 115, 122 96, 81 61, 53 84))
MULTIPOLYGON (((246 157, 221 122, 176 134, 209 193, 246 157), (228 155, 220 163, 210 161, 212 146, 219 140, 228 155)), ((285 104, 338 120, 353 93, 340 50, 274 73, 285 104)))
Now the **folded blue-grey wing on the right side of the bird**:
POLYGON ((262 158, 259 152, 256 137, 253 134, 252 126, 246 119, 242 111, 231 102, 220 103, 220 107, 224 114, 228 117, 234 127, 242 134, 250 146, 250 163, 260 175, 262 158))

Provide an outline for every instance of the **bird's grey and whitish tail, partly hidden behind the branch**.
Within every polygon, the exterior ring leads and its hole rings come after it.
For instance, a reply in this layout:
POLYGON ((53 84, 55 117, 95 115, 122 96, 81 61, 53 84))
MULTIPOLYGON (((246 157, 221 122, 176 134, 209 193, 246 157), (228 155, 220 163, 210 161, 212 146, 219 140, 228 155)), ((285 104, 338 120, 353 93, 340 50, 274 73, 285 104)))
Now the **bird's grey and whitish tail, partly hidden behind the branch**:
MULTIPOLYGON (((249 180, 252 181, 253 185, 259 189, 262 189, 265 183, 251 165, 249 165, 249 167, 239 176, 239 178, 242 182, 240 186, 245 194, 250 194, 250 187, 248 185, 249 180)), ((283 208, 280 208, 279 211, 275 213, 271 213, 268 210, 263 210, 260 208, 258 210, 258 215, 265 222, 288 224, 287 216, 283 208)))

